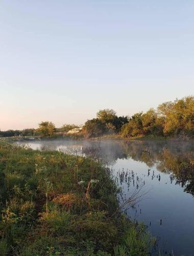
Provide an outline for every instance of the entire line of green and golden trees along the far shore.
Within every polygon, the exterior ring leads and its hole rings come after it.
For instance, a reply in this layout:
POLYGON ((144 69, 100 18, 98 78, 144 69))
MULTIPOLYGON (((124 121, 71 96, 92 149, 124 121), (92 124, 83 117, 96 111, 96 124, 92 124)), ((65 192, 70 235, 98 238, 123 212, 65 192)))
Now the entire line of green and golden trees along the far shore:
MULTIPOLYGON (((39 123, 38 129, 22 131, 0 131, 0 137, 37 136, 51 137, 56 133, 67 133, 78 127, 76 124, 64 124, 56 128, 50 121, 39 123)), ((194 135, 194 97, 187 96, 168 101, 150 109, 146 113, 138 112, 133 116, 117 116, 112 109, 100 110, 96 118, 87 120, 80 134, 85 138, 117 134, 123 138, 137 136, 193 136, 194 135)))

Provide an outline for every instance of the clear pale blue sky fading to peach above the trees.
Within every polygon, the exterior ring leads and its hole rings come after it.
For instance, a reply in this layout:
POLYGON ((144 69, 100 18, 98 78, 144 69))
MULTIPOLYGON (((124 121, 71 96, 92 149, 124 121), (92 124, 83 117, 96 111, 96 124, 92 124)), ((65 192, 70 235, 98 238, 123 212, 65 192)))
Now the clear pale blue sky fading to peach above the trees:
POLYGON ((193 0, 0 0, 0 129, 194 93, 193 0))

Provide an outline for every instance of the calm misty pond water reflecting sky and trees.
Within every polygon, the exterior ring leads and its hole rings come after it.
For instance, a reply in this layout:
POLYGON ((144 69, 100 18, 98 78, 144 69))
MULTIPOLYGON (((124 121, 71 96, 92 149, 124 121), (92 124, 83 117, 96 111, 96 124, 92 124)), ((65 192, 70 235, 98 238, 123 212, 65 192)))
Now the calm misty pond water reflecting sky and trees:
MULTIPOLYGON (((23 143, 23 142, 22 142, 23 143)), ((123 209, 132 220, 143 221, 158 238, 163 254, 194 255, 194 145, 163 141, 32 140, 33 149, 61 150, 99 157, 112 169, 122 204, 138 190, 134 207, 123 209), (129 209, 127 209, 129 208, 129 209)))

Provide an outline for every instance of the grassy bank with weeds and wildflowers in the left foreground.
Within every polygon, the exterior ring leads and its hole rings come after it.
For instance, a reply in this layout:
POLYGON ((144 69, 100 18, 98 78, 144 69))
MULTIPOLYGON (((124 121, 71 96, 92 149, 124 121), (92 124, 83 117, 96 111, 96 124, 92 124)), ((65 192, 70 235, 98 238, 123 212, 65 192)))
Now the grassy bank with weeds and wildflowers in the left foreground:
POLYGON ((1 255, 148 255, 155 239, 117 212, 110 170, 0 141, 1 255))

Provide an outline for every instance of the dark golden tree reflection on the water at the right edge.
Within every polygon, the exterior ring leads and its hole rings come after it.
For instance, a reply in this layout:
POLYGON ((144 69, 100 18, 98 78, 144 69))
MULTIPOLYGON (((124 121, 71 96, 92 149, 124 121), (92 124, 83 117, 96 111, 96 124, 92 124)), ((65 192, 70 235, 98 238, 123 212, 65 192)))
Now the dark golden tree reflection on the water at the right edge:
MULTIPOLYGON (((194 196, 194 150, 192 143, 176 142, 128 142, 123 148, 135 161, 156 166, 165 173, 173 173, 176 184, 194 196)), ((172 179, 172 176, 170 177, 172 179)))

